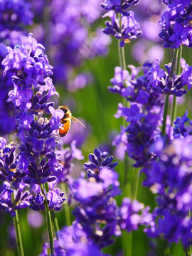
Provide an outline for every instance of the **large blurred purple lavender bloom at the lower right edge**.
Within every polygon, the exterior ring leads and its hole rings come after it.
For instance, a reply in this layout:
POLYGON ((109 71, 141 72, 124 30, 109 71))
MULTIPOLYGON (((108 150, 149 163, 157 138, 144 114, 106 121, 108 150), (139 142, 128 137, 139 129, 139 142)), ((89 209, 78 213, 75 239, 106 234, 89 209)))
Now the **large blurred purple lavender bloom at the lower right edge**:
POLYGON ((158 208, 154 210, 156 228, 146 232, 153 237, 163 234, 169 242, 181 238, 185 247, 191 245, 191 139, 188 135, 168 145, 159 139, 153 146, 158 160, 144 170, 144 185, 158 194, 158 208))

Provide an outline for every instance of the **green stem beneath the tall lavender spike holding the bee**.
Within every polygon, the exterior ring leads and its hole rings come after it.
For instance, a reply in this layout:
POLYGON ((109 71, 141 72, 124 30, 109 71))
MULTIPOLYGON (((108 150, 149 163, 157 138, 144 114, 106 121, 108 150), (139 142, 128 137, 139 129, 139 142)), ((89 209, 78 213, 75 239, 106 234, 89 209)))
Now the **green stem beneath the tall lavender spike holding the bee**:
POLYGON ((50 218, 50 211, 49 211, 49 208, 48 208, 48 202, 47 202, 47 199, 46 199, 46 194, 45 194, 45 191, 44 191, 44 188, 43 188, 42 184, 41 184, 41 192, 43 193, 43 196, 45 197, 46 220, 47 220, 47 226, 48 226, 48 238, 49 238, 49 244, 50 244, 50 253, 51 253, 51 256, 55 256, 52 222, 51 222, 51 218, 50 218))

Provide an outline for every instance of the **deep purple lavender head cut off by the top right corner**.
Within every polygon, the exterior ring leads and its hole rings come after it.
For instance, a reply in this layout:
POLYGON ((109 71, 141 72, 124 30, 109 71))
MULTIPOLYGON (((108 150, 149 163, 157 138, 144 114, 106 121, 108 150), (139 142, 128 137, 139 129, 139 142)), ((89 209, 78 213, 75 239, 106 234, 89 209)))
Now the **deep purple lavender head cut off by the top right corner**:
POLYGON ((169 11, 161 16, 161 33, 165 48, 178 48, 180 46, 192 46, 191 42, 191 1, 164 1, 169 11))

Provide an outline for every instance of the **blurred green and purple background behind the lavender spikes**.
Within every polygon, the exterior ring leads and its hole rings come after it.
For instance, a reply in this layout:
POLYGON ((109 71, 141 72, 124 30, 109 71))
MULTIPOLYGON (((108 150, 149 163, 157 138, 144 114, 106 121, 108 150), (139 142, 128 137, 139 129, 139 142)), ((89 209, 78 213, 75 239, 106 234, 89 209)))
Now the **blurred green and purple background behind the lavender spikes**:
MULTIPOLYGON (((122 119, 114 118, 117 105, 122 97, 113 95, 107 90, 110 79, 114 77, 114 67, 119 65, 117 40, 102 33, 105 27, 104 14, 100 7, 101 0, 31 0, 31 1, 0 1, 0 58, 7 54, 6 46, 13 47, 22 43, 29 32, 33 33, 38 43, 45 46, 50 65, 53 66, 53 84, 60 97, 52 98, 55 107, 67 105, 73 116, 85 124, 86 129, 78 123, 72 123, 70 132, 63 137, 64 147, 70 146, 75 139, 78 149, 82 150, 83 160, 74 160, 73 173, 78 176, 82 164, 88 160, 88 154, 95 147, 108 151, 119 161, 116 171, 119 181, 124 181, 124 155, 122 149, 112 146, 114 136, 118 134, 122 119)), ((159 57, 161 66, 171 62, 171 49, 164 49, 158 36, 164 5, 159 0, 141 0, 140 4, 132 7, 135 18, 140 23, 142 36, 134 43, 125 46, 127 65, 142 65, 146 60, 159 57)), ((192 65, 189 50, 183 48, 183 58, 192 65)), ((14 116, 12 103, 6 102, 11 88, 11 78, 3 78, 1 67, 0 78, 0 136, 6 137, 7 142, 16 139, 14 132, 14 116), (11 134, 11 135, 10 135, 11 134)), ((178 116, 186 110, 191 115, 191 92, 179 99, 178 116)), ((137 170, 137 174, 139 170, 137 170)), ((142 186, 144 174, 139 178, 137 200, 145 205, 156 206, 154 195, 148 188, 142 186)), ((127 196, 123 191, 117 198, 127 196)), ((65 211, 57 213, 60 227, 66 225, 65 211)), ((25 254, 36 256, 41 253, 43 243, 48 240, 46 219, 43 213, 25 209, 19 212, 21 233, 25 254)), ((73 219, 73 215, 71 214, 73 219)), ((9 214, 0 210, 0 255, 16 255, 14 225, 9 214)), ((155 244, 146 238, 141 230, 133 233, 132 255, 163 255, 164 241, 155 244), (152 254, 153 250, 156 254, 152 254), (150 252, 151 251, 151 252, 150 252), (151 253, 151 254, 150 254, 151 253)), ((121 250, 121 240, 105 252, 117 255, 121 250)), ((182 255, 180 244, 172 245, 172 255, 182 255)), ((120 255, 120 254, 119 254, 120 255)))

